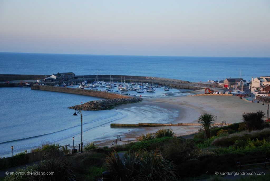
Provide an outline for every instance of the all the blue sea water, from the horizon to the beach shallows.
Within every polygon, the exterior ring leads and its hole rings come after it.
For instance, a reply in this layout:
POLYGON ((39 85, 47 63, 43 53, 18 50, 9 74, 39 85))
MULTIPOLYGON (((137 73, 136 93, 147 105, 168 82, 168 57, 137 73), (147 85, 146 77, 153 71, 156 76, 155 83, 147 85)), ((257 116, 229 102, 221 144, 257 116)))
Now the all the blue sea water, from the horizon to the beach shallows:
MULTIPOLYGON (((0 74, 134 75, 207 82, 225 78, 270 76, 270 58, 72 55, 0 52, 0 74), (262 66, 263 65, 263 66, 262 66)), ((158 88, 157 88, 158 89, 158 88)), ((187 90, 171 89, 168 96, 184 96, 187 90)), ((101 98, 68 93, 36 91, 30 88, 0 88, 0 157, 31 151, 41 144, 80 143, 81 122, 69 106, 101 98)), ((144 97, 166 96, 162 90, 144 97)), ((157 106, 82 111, 83 142, 126 140, 127 128, 110 128, 110 123, 170 123, 181 112, 157 106), (153 111, 154 110, 154 111, 153 111)), ((136 132, 143 128, 132 128, 136 132)))

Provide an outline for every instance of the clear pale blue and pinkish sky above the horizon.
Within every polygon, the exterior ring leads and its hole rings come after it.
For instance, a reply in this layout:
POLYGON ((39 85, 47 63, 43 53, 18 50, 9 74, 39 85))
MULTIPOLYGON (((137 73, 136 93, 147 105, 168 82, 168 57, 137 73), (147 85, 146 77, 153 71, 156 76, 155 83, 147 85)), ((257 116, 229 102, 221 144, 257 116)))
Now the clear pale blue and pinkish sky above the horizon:
POLYGON ((270 57, 270 1, 0 0, 0 52, 270 57))

